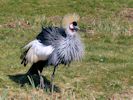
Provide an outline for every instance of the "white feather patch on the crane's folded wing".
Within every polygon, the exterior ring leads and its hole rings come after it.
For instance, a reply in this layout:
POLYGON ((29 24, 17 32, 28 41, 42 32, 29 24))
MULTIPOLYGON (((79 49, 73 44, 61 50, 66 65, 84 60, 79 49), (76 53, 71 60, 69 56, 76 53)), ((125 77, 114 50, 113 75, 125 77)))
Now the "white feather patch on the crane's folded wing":
POLYGON ((45 46, 39 40, 31 41, 24 49, 28 50, 26 59, 30 63, 36 63, 40 60, 47 60, 49 55, 53 52, 54 48, 49 45, 45 46))

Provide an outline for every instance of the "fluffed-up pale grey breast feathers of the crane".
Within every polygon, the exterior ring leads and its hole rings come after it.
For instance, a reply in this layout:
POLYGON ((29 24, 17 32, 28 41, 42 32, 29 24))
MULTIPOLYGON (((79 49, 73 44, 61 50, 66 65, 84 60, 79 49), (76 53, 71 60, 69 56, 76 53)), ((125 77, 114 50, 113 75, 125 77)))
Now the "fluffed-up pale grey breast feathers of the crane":
POLYGON ((54 66, 60 63, 66 65, 72 61, 79 61, 84 55, 84 45, 78 36, 68 36, 55 45, 55 50, 49 57, 49 63, 54 66))

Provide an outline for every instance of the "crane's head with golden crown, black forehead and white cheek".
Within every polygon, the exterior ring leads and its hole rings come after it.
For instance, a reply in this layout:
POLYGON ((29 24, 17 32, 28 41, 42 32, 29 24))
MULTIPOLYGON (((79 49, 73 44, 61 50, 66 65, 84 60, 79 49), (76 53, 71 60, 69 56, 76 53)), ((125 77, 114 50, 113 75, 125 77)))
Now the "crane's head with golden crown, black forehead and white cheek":
POLYGON ((66 33, 69 35, 75 35, 79 30, 78 22, 79 16, 77 14, 68 14, 64 16, 62 20, 62 27, 65 29, 66 33))

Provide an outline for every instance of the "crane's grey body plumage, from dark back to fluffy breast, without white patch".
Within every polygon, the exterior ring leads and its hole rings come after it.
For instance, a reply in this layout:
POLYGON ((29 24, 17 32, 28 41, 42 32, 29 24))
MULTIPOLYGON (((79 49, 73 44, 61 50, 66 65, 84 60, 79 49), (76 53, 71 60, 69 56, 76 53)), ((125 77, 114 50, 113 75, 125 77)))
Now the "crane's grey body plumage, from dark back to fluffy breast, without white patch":
POLYGON ((48 65, 70 64, 73 60, 81 60, 83 44, 79 36, 70 36, 63 28, 45 28, 37 36, 44 45, 52 45, 55 49, 48 58, 48 65))

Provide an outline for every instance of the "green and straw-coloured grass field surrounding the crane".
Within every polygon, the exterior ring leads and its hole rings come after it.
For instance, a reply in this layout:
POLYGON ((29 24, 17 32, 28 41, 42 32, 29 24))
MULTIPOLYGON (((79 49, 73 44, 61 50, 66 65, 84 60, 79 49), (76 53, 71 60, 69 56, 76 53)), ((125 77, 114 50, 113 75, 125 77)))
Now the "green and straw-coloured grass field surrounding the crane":
MULTIPOLYGON (((53 67, 44 69, 50 80, 53 67)), ((37 78, 35 78, 37 80, 37 78)), ((32 82, 34 83, 34 82, 32 82)), ((0 0, 0 100, 133 99, 132 0, 0 0), (82 62, 59 66, 53 95, 29 85, 30 65, 20 64, 22 47, 41 26, 60 26, 67 13, 81 18, 82 62), (25 83, 21 86, 20 83, 25 83)))

